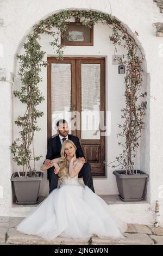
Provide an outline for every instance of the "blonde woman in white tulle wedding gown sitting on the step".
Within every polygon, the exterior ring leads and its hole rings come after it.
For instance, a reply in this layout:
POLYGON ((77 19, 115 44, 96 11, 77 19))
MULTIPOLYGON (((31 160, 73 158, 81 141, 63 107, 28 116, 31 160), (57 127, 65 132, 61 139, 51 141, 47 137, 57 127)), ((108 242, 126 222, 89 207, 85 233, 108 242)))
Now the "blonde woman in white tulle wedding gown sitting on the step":
MULTIPOLYGON (((104 200, 79 183, 78 173, 83 163, 76 159, 75 152, 76 145, 67 139, 62 144, 61 157, 52 160, 54 173, 59 175, 58 188, 17 226, 17 230, 48 241, 57 236, 73 239, 89 239, 92 235, 123 237, 127 225, 117 224, 104 200)), ((41 170, 46 169, 43 164, 41 170)))

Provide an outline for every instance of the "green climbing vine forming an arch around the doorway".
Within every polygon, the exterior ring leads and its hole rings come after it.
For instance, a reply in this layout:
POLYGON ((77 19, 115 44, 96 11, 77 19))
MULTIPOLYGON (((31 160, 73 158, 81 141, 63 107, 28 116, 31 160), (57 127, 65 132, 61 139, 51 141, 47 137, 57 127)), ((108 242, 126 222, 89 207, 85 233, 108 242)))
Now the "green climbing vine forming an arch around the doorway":
POLYGON ((117 165, 112 165, 112 167, 121 165, 126 170, 126 174, 133 174, 136 148, 139 147, 138 140, 141 137, 147 104, 146 101, 137 103, 140 97, 144 98, 147 95, 146 92, 141 93, 143 54, 135 40, 138 33, 135 32, 134 35, 131 35, 128 29, 115 17, 92 10, 64 10, 53 14, 36 24, 32 33, 27 36, 27 42, 24 43, 24 54, 17 55, 17 59, 20 60, 18 75, 21 77, 22 87, 19 91, 14 91, 15 97, 26 104, 27 108, 24 115, 18 116, 15 121, 21 131, 19 132, 20 137, 11 146, 11 153, 14 155, 13 160, 18 165, 23 166, 23 173, 26 176, 27 171, 30 176, 32 175, 33 170, 35 171, 35 161, 40 160, 41 156, 35 156, 34 149, 32 149, 34 148, 32 147, 34 132, 41 130, 37 126, 37 118, 43 115, 43 112, 36 108, 44 100, 38 86, 42 81, 40 71, 42 66, 46 67, 47 65, 47 62, 43 61, 45 52, 41 50, 39 39, 42 34, 51 35, 52 41, 49 44, 53 46, 58 59, 62 60, 65 46, 60 44, 60 37, 69 38, 66 34, 66 28, 71 17, 82 18, 83 25, 87 27, 101 22, 111 28, 112 33, 108 36, 115 46, 115 59, 126 67, 126 76, 124 77, 126 106, 121 109, 123 124, 118 126, 122 132, 117 135, 123 137, 125 142, 118 142, 123 147, 123 151, 114 161, 117 162, 117 165), (127 52, 127 54, 123 54, 122 58, 116 57, 117 46, 125 48, 127 52), (33 168, 30 166, 32 160, 34 161, 33 168))

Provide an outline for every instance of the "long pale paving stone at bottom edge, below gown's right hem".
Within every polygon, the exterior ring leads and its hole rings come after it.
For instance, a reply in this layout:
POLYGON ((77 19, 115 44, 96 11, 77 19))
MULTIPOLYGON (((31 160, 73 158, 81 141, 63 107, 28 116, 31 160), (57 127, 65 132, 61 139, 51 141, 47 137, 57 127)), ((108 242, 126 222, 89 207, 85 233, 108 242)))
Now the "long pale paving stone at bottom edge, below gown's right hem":
POLYGON ((124 233, 124 238, 99 239, 92 237, 92 245, 153 245, 153 240, 147 234, 124 233))

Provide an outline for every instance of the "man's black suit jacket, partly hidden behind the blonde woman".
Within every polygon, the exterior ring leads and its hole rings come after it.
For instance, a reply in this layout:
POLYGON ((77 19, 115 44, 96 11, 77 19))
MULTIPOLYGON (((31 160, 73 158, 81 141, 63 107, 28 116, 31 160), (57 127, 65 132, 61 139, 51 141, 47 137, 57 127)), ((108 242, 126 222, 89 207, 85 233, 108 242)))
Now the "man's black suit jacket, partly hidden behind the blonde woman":
MULTIPOLYGON (((68 135, 68 139, 70 139, 77 147, 77 150, 76 150, 77 158, 85 157, 83 154, 82 147, 79 142, 79 138, 76 136, 73 136, 73 135, 68 135)), ((55 136, 54 138, 49 139, 48 146, 47 146, 46 159, 52 160, 52 159, 60 157, 61 146, 62 145, 60 142, 59 135, 55 136)), ((49 172, 53 169, 54 169, 54 167, 48 169, 48 177, 49 177, 49 172)))

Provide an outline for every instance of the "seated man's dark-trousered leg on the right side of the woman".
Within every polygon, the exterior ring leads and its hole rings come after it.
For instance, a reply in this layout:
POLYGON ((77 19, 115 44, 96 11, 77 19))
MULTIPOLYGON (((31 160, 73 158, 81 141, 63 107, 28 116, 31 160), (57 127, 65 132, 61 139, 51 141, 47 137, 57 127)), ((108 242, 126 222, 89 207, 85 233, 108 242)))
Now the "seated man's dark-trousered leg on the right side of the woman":
POLYGON ((91 190, 95 193, 90 163, 84 163, 84 166, 79 172, 79 177, 83 177, 84 184, 91 188, 91 190))

